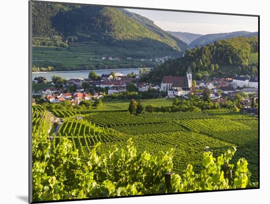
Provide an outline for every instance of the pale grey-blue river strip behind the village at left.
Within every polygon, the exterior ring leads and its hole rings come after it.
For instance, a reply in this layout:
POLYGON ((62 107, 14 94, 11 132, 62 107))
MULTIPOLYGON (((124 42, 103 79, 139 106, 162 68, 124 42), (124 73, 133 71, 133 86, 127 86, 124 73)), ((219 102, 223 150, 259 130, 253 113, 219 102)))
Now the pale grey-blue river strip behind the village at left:
MULTIPOLYGON (((134 72, 134 74, 138 74, 139 73, 139 69, 140 68, 132 68, 132 69, 96 69, 96 70, 81 70, 81 71, 54 71, 54 72, 32 72, 32 79, 34 79, 35 77, 45 77, 47 80, 51 80, 52 76, 60 76, 63 79, 75 79, 75 78, 88 78, 89 72, 90 71, 95 71, 99 76, 101 76, 102 74, 109 74, 112 71, 116 72, 120 72, 124 75, 127 75, 129 73, 131 73, 132 71, 134 72)), ((151 70, 151 68, 147 68, 149 71, 151 70)))

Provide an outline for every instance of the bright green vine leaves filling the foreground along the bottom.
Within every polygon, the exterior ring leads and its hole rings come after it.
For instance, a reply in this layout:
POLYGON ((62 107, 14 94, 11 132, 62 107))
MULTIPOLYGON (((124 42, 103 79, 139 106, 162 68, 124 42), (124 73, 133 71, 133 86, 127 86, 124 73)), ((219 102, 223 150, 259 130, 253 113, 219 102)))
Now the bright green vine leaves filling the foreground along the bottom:
MULTIPOLYGON (((42 134, 41 137, 46 137, 42 134)), ((38 140, 39 146, 50 146, 49 140, 38 140)), ((228 149, 217 159, 212 152, 204 152, 200 174, 193 172, 192 165, 181 175, 174 174, 170 187, 165 184, 164 174, 172 171, 173 149, 152 156, 148 152, 137 153, 132 139, 126 149, 110 148, 109 155, 99 155, 97 143, 89 152, 86 161, 66 137, 57 146, 43 149, 43 157, 33 160, 33 200, 50 201, 111 196, 126 196, 168 192, 186 192, 255 187, 250 182, 247 161, 237 162, 235 174, 230 174, 234 165, 230 160, 236 148, 228 149)), ((33 152, 35 154, 35 149, 33 152)))

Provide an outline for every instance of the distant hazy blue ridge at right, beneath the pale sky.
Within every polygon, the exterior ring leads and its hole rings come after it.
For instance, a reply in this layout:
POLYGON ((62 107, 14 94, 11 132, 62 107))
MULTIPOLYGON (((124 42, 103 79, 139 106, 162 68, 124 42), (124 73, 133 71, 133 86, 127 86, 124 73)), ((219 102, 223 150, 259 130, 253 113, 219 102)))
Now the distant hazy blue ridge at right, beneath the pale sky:
POLYGON ((229 39, 237 36, 246 36, 246 37, 258 36, 258 32, 236 31, 227 33, 207 34, 190 42, 189 47, 194 48, 195 46, 204 46, 206 44, 215 42, 216 40, 229 39))

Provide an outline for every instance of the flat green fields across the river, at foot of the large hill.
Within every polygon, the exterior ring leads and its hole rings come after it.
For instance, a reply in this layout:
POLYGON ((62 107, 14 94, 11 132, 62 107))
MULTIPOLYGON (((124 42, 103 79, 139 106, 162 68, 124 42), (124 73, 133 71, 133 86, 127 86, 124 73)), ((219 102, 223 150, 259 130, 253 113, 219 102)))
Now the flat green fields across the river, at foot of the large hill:
MULTIPOLYGON (((147 65, 154 66, 156 63, 144 61, 140 62, 137 59, 128 60, 127 57, 135 56, 136 52, 132 52, 125 48, 110 48, 102 45, 70 45, 70 49, 53 46, 33 46, 32 61, 35 66, 60 66, 65 67, 65 70, 78 69, 79 67, 88 66, 88 68, 135 68, 147 65), (131 53, 132 52, 132 53, 131 53), (102 57, 120 58, 117 60, 104 60, 102 57), (102 63, 102 64, 101 64, 102 63), (120 64, 120 65, 119 65, 120 64), (136 65, 136 66, 135 66, 136 65), (130 67, 132 66, 132 67, 130 67)), ((141 52, 141 51, 140 51, 141 52)), ((84 67, 86 69, 86 67, 84 67)))

